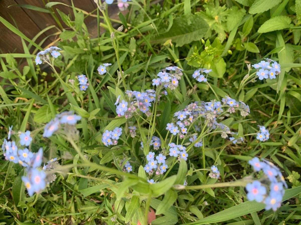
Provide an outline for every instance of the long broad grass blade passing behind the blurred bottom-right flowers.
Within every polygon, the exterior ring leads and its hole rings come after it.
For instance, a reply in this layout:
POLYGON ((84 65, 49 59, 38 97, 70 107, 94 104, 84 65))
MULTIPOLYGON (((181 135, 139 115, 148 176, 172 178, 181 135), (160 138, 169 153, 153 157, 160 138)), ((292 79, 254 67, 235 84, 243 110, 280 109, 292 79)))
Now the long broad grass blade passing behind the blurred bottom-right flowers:
MULTIPOLYGON (((282 198, 282 201, 290 199, 299 193, 301 193, 301 186, 287 189, 287 190, 285 190, 285 194, 282 198)), ((247 202, 240 203, 238 205, 234 205, 230 208, 227 208, 223 211, 212 214, 210 216, 207 216, 201 220, 197 220, 192 223, 185 223, 185 225, 188 225, 188 224, 189 225, 192 225, 192 224, 201 225, 201 224, 206 224, 206 223, 219 223, 222 221, 231 220, 236 217, 240 217, 240 216, 249 214, 251 212, 260 211, 264 208, 265 208, 264 203, 259 203, 256 201, 247 201, 247 202)))

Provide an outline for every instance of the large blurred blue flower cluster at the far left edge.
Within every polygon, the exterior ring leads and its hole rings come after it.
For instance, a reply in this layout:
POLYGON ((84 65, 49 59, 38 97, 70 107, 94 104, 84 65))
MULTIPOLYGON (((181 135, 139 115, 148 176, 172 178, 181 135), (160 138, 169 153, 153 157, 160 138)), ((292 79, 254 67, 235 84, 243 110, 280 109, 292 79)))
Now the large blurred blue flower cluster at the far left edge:
MULTIPOLYGON (((8 140, 11 138, 12 133, 11 126, 8 132, 8 140)), ((19 138, 21 146, 29 146, 33 140, 32 137, 30 137, 30 131, 21 133, 19 138)), ((26 168, 27 176, 22 176, 22 181, 27 188, 28 194, 32 196, 34 192, 41 192, 46 187, 46 173, 38 169, 42 164, 43 149, 40 148, 37 153, 33 153, 27 148, 22 149, 21 146, 17 146, 15 141, 7 141, 4 139, 2 145, 3 155, 6 160, 18 163, 26 168)))

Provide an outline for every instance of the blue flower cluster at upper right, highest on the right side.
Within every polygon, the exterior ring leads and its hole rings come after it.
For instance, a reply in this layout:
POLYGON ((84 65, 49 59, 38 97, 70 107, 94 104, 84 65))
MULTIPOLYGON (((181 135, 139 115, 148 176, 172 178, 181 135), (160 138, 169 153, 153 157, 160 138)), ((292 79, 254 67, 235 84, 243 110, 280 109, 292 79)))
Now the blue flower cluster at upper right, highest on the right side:
POLYGON ((263 79, 276 79, 276 75, 281 73, 280 64, 276 61, 265 58, 267 61, 260 61, 257 64, 252 65, 255 69, 257 69, 256 75, 259 77, 260 80, 263 79), (270 64, 272 62, 272 65, 270 64))

